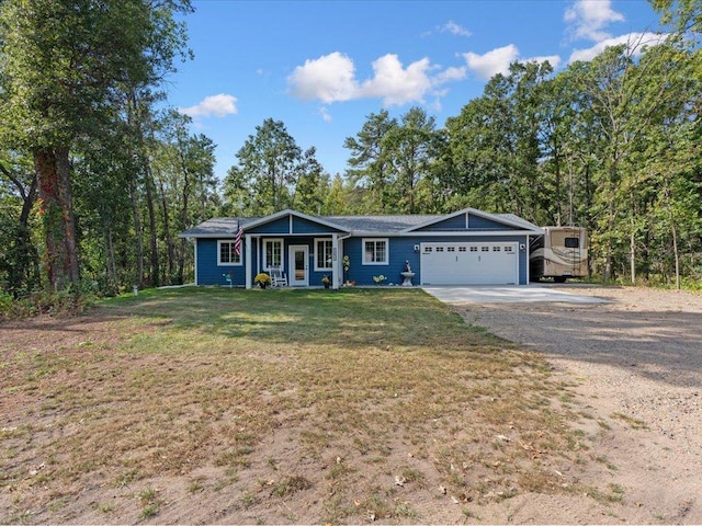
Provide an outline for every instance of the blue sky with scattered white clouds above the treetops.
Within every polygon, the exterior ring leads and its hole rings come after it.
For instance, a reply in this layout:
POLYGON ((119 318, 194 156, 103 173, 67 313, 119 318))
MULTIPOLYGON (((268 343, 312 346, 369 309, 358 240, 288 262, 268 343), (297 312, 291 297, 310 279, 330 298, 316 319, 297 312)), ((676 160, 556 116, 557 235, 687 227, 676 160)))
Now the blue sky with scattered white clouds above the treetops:
POLYGON ((195 58, 169 79, 169 103, 217 145, 224 178, 265 118, 343 173, 347 137, 371 113, 412 106, 442 127, 514 60, 556 71, 607 45, 655 42, 645 0, 193 0, 195 58))

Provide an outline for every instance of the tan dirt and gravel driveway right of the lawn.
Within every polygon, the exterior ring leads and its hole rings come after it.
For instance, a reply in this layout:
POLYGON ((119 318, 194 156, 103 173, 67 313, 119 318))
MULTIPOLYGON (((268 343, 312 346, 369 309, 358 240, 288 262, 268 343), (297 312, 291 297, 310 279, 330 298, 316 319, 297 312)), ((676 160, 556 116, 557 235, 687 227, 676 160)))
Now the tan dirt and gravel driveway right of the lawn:
POLYGON ((702 296, 566 286, 607 304, 494 304, 466 321, 545 353, 610 428, 595 448, 621 503, 524 495, 496 522, 702 524, 702 296))

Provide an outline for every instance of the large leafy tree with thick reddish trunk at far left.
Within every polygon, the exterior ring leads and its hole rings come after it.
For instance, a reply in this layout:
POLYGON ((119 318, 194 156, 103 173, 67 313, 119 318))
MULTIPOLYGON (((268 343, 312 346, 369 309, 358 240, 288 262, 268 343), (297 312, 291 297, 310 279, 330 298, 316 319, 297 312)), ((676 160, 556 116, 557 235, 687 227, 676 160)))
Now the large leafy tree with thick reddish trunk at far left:
POLYGON ((109 122, 123 87, 157 82, 184 42, 188 0, 5 0, 0 13, 10 144, 30 151, 52 288, 80 277, 70 176, 73 141, 109 122))

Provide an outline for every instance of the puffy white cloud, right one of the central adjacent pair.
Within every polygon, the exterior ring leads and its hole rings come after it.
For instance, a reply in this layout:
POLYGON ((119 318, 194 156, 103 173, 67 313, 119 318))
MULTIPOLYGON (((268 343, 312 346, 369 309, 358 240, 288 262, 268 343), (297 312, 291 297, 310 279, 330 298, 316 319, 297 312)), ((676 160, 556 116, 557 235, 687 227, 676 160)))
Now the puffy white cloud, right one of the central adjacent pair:
POLYGON ((363 82, 361 94, 382 98, 386 106, 423 102, 432 84, 427 75, 430 68, 428 58, 417 60, 405 69, 397 55, 385 55, 373 62, 375 75, 363 82))

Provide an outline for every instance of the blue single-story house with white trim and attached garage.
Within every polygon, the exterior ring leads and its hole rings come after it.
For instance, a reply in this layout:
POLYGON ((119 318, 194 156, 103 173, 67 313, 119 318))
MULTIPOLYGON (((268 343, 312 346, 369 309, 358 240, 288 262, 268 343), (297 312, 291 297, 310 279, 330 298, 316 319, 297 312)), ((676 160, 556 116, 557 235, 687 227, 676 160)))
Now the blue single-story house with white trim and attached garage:
POLYGON ((293 287, 344 283, 414 285, 529 283, 529 238, 543 236, 512 214, 475 208, 446 215, 215 218, 180 235, 194 242, 195 284, 250 288, 259 272, 283 271, 293 287), (344 270, 347 256, 348 270, 344 270))

